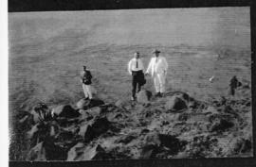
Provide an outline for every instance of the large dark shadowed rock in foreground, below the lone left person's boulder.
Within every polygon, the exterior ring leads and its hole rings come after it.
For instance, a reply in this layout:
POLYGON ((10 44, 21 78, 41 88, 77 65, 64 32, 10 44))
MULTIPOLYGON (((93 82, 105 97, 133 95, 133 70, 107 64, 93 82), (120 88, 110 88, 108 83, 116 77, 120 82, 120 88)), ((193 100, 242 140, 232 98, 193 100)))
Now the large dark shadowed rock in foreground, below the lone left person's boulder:
POLYGON ((110 122, 105 118, 97 118, 93 124, 88 125, 84 134, 84 142, 90 142, 96 137, 101 136, 110 128, 110 122))

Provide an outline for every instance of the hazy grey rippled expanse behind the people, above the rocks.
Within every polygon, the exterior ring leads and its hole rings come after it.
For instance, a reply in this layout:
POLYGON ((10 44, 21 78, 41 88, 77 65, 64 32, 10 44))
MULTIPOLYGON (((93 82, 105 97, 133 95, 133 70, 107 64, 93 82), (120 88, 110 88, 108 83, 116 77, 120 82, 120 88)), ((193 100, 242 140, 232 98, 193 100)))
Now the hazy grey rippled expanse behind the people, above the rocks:
MULTIPOLYGON (((139 51, 147 65, 154 48, 169 63, 168 91, 204 101, 226 96, 232 75, 250 84, 249 8, 9 13, 10 125, 37 102, 80 100, 83 64, 98 97, 129 99, 127 62, 139 51)), ((146 89, 152 84, 148 78, 146 89)))

